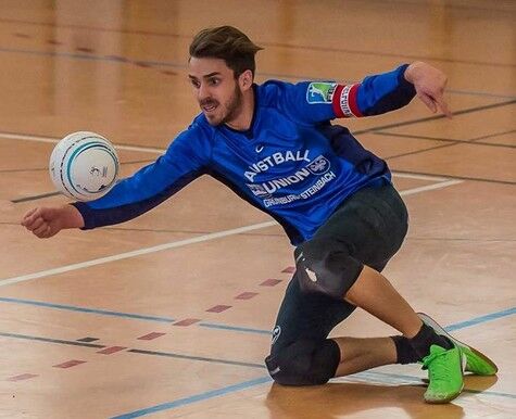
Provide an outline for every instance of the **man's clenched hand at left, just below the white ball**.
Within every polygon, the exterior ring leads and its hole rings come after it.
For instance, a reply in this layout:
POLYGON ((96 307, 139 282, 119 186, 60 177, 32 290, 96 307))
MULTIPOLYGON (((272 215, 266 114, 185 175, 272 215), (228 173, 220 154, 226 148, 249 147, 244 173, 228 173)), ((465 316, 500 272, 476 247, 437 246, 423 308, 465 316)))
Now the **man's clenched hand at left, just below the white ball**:
POLYGON ((62 229, 84 227, 84 219, 78 210, 72 205, 41 206, 26 213, 21 224, 38 238, 48 239, 62 229))

